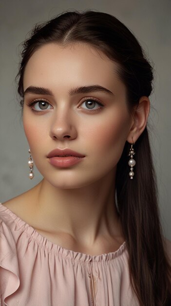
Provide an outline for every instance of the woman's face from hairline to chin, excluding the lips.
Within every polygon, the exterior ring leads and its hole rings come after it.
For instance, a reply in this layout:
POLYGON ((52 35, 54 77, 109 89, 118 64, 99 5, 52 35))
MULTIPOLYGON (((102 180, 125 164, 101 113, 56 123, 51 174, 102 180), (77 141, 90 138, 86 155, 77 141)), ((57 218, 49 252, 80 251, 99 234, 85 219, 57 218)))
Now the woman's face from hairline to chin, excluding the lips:
POLYGON ((46 44, 28 61, 24 91, 28 87, 48 91, 27 89, 23 126, 34 163, 53 186, 79 188, 111 172, 115 175, 133 122, 126 87, 116 69, 103 53, 86 44, 65 48, 46 44), (75 92, 94 85, 108 92, 95 88, 75 92), (29 107, 31 102, 35 103, 29 107), (73 166, 58 168, 47 158, 57 148, 69 148, 85 157, 73 166))

